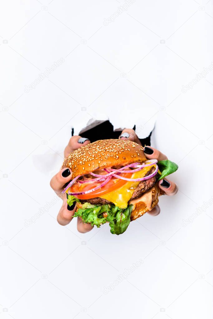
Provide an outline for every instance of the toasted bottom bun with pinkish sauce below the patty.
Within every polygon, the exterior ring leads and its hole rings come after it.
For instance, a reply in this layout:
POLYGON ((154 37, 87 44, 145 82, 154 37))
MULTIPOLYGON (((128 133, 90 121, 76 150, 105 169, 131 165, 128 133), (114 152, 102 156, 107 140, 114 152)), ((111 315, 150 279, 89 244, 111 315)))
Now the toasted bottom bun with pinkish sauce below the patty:
POLYGON ((147 190, 142 196, 130 200, 129 204, 133 205, 131 212, 131 221, 143 216, 147 211, 151 211, 158 204, 158 197, 163 195, 156 183, 151 189, 147 190))

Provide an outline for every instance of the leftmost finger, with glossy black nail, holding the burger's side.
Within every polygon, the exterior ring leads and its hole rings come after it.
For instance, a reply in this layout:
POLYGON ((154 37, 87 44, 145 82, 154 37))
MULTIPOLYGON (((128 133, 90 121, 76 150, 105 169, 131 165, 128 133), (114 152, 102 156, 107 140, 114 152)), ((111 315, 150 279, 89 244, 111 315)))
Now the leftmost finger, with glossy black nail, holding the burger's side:
POLYGON ((72 171, 70 168, 65 167, 61 169, 50 181, 50 186, 55 190, 56 194, 61 194, 64 189, 64 184, 70 182, 72 179, 72 171))

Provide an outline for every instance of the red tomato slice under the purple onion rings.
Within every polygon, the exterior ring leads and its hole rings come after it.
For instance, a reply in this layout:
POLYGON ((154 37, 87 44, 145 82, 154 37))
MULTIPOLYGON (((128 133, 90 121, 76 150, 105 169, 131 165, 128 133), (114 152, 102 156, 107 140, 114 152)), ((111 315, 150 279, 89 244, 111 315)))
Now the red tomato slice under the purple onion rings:
MULTIPOLYGON (((128 177, 131 178, 132 173, 121 173, 122 177, 128 177)), ((78 199, 90 199, 90 198, 94 198, 94 197, 100 197, 104 194, 107 194, 119 187, 121 187, 123 184, 125 184, 126 181, 121 180, 120 178, 115 178, 112 177, 109 182, 107 182, 107 184, 105 184, 103 187, 88 193, 88 194, 84 194, 84 195, 75 195, 75 197, 77 197, 78 199)), ((77 184, 74 183, 71 187, 70 187, 70 191, 72 193, 77 193, 79 191, 87 191, 90 190, 92 188, 95 188, 96 186, 100 185, 99 182, 95 182, 95 183, 88 183, 88 184, 77 184)))

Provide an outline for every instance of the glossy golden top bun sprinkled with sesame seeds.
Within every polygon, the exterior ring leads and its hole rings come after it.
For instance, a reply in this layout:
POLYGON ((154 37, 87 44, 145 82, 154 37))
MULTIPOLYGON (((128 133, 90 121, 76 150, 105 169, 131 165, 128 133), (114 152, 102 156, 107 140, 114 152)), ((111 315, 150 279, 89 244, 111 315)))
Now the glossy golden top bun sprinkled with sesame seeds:
POLYGON ((96 169, 143 163, 145 160, 141 145, 129 140, 106 139, 81 146, 70 153, 64 159, 62 168, 71 168, 73 179, 77 175, 88 174, 96 169))

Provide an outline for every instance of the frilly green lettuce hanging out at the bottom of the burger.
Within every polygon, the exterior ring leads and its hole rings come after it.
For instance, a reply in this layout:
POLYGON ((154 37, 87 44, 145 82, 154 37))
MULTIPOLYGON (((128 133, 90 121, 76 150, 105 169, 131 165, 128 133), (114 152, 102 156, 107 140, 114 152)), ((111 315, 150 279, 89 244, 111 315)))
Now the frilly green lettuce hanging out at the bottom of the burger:
POLYGON ((85 223, 92 226, 100 225, 109 222, 110 232, 112 234, 122 234, 125 232, 130 223, 130 215, 132 212, 132 205, 125 209, 121 209, 115 205, 92 205, 84 203, 82 208, 79 208, 74 217, 80 217, 85 223), (103 217, 102 213, 107 212, 107 217, 103 217))

